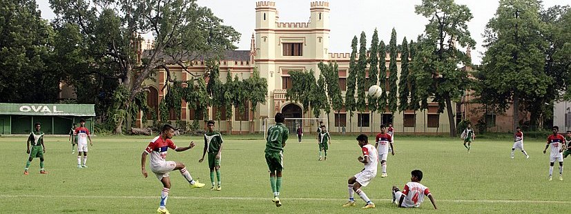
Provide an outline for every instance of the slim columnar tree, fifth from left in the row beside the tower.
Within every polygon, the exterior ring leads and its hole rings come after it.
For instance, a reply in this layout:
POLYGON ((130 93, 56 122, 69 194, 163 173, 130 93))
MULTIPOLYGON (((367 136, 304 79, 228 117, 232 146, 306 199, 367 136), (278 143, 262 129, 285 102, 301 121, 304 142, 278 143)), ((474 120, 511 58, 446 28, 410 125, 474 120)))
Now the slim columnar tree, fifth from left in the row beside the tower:
POLYGON ((391 57, 391 62, 389 63, 389 96, 387 97, 389 100, 389 110, 394 115, 397 108, 397 100, 396 95, 398 93, 396 84, 398 80, 398 70, 396 68, 396 57, 398 55, 398 50, 396 49, 396 30, 391 32, 391 41, 389 42, 389 52, 391 57))

